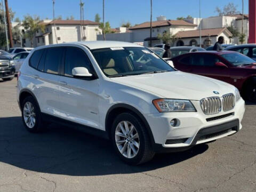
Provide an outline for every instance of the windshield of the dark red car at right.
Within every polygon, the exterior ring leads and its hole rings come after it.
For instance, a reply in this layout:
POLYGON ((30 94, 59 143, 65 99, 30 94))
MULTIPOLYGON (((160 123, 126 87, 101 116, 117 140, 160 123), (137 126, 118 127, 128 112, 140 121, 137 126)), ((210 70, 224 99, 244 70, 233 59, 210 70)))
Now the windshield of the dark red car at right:
POLYGON ((250 65, 255 62, 251 58, 239 53, 227 53, 221 56, 234 66, 250 65))

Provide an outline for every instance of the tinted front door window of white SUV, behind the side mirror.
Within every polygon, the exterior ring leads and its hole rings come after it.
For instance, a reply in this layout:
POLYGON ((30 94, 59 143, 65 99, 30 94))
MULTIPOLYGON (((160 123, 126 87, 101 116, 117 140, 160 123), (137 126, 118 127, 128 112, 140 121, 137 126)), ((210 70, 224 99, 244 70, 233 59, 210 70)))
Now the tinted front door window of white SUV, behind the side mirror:
POLYGON ((85 52, 76 47, 67 47, 65 57, 65 76, 73 77, 72 69, 75 67, 86 67, 92 73, 92 66, 85 52))

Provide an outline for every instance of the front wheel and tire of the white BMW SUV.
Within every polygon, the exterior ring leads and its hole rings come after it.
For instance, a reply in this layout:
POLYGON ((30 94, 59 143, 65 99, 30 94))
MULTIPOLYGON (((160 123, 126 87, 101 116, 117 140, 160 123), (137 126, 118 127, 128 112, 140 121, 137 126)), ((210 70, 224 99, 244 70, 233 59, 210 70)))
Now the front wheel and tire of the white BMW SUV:
POLYGON ((130 165, 146 163, 155 155, 145 125, 140 118, 132 113, 122 113, 115 118, 111 127, 111 141, 118 156, 130 165), (128 132, 126 130, 127 127, 130 135, 128 134, 124 137, 124 134, 128 132), (122 153, 123 148, 125 150, 122 153))

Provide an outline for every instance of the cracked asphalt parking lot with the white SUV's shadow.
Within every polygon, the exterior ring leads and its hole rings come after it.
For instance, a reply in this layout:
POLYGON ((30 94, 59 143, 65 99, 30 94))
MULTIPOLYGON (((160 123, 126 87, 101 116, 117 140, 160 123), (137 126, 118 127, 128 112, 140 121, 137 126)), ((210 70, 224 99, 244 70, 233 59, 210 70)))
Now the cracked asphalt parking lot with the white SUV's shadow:
POLYGON ((0 80, 0 191, 256 191, 256 105, 243 129, 188 151, 129 166, 110 142, 50 124, 22 125, 14 78, 0 80))

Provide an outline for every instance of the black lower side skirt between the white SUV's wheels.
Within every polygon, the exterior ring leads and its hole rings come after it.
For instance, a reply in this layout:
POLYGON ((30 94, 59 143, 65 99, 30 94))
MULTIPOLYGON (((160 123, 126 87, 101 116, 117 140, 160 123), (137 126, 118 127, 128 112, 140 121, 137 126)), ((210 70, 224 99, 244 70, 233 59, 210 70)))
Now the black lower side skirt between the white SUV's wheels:
POLYGON ((49 123, 57 123, 57 124, 61 124, 63 126, 68 126, 71 127, 73 129, 76 129, 78 131, 82 131, 91 135, 95 135, 97 137, 101 137, 103 139, 109 139, 108 134, 106 131, 102 131, 99 129, 96 129, 94 127, 90 127, 90 126, 86 126, 86 125, 82 125, 79 123, 74 123, 74 122, 70 122, 66 119, 62 119, 59 117, 55 117, 49 114, 45 114, 45 113, 41 113, 42 117, 44 119, 44 121, 49 122, 49 123))

